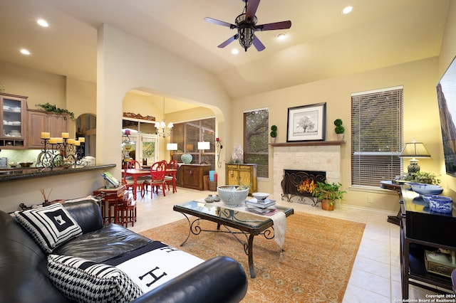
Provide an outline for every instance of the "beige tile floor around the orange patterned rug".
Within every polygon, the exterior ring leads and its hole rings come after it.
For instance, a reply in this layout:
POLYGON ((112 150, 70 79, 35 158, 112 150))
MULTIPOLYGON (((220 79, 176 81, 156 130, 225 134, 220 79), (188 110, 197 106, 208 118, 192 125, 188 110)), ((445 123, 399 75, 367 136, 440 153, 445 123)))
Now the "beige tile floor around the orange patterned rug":
MULTIPOLYGON (((184 217, 182 214, 172 211, 172 206, 185 201, 205 198, 208 194, 215 193, 179 187, 177 193, 167 191, 166 197, 162 196, 160 191, 158 195, 154 193, 152 199, 150 192, 144 198, 140 198, 138 195, 138 222, 135 223, 134 227, 129 228, 135 232, 141 232, 180 220, 184 217)), ((343 204, 336 207, 335 211, 323 211, 320 207, 303 203, 289 203, 281 201, 280 198, 276 200, 278 204, 291 206, 295 211, 366 223, 343 303, 402 302, 399 226, 386 221, 388 215, 395 215, 395 213, 372 211, 366 208, 344 206, 343 204)), ((346 233, 347 231, 336 230, 335 232, 346 233)), ((426 299, 426 294, 435 294, 435 292, 410 286, 410 299, 426 299)))

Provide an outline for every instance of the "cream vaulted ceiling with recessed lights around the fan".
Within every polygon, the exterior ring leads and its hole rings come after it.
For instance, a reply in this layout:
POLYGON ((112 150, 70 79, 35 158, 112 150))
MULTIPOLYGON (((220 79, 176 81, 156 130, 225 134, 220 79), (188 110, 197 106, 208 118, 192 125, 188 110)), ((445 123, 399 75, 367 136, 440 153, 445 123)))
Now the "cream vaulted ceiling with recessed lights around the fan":
POLYGON ((258 24, 291 20, 291 28, 257 33, 266 49, 244 52, 237 41, 217 48, 235 30, 203 21, 234 23, 242 0, 7 0, 0 3, 0 60, 95 83, 97 28, 108 23, 214 73, 239 97, 439 55, 449 4, 263 0, 258 24), (347 5, 353 12, 341 14, 347 5), (37 18, 50 26, 37 26, 37 18))

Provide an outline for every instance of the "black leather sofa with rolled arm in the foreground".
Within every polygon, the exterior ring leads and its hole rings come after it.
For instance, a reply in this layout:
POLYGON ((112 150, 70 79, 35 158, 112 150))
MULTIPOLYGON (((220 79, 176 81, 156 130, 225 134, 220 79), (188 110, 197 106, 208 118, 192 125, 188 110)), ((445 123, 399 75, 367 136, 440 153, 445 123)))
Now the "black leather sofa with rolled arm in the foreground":
MULTIPOLYGON (((152 240, 113 223, 103 225, 93 201, 63 204, 83 234, 52 253, 105 262, 142 248, 152 240)), ((49 279, 47 254, 9 213, 0 211, 0 302, 69 302, 49 279)), ((239 302, 247 276, 238 262, 214 257, 175 277, 133 302, 239 302)))

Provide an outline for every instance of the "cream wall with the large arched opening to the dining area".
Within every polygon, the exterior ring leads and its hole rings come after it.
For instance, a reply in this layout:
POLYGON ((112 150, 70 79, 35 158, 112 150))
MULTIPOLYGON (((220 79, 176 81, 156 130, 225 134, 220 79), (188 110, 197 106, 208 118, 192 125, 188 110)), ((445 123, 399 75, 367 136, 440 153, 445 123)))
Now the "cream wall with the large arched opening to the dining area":
MULTIPOLYGON (((204 103, 220 121, 229 115, 229 97, 212 73, 108 25, 99 29, 98 41, 97 159, 120 164, 121 134, 112 130, 121 128, 123 100, 133 88, 204 103)), ((114 175, 120 176, 120 165, 114 175)))

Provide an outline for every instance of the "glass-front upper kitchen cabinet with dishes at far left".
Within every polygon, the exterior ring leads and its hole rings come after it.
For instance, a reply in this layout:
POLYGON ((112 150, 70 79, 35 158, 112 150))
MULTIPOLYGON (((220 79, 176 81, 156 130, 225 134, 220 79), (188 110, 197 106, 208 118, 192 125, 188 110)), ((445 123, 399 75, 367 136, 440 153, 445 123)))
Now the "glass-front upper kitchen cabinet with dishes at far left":
POLYGON ((0 149, 25 148, 27 97, 0 93, 0 149))

